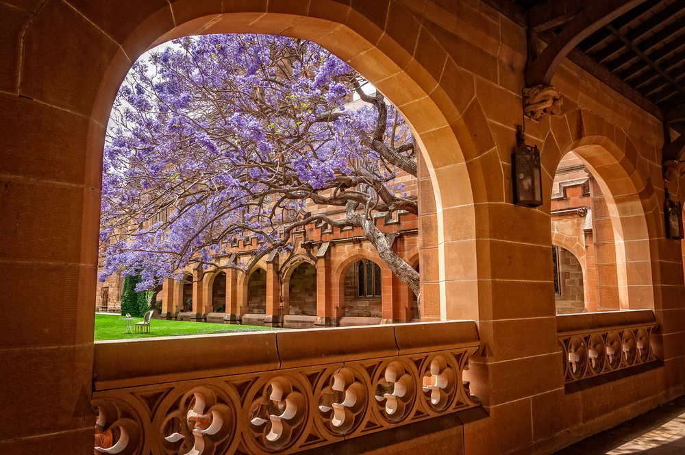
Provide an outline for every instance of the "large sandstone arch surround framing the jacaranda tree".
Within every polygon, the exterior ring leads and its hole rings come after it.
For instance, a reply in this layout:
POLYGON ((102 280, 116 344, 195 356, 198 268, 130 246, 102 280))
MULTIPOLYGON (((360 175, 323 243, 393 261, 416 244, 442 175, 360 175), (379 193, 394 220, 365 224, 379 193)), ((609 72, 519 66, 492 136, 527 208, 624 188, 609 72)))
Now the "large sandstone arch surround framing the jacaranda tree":
POLYGON ((489 258, 477 253, 473 202, 486 201, 493 194, 495 198, 503 197, 501 191, 492 190, 503 184, 502 173, 497 170, 501 164, 483 108, 477 101, 471 102, 473 84, 468 80, 463 83, 464 75, 455 69, 452 57, 421 28, 410 8, 398 3, 377 23, 368 23, 361 21, 362 16, 353 8, 332 1, 269 5, 266 10, 249 4, 231 12, 210 5, 189 6, 182 0, 155 12, 140 12, 142 17, 137 25, 118 29, 116 35, 121 36, 123 44, 105 65, 107 70, 97 86, 91 112, 94 121, 88 127, 91 139, 87 154, 93 169, 88 172, 95 173, 100 162, 103 125, 116 90, 132 60, 142 51, 191 34, 249 32, 312 40, 369 79, 412 127, 423 150, 436 199, 438 223, 434 229, 441 246, 436 251, 440 317, 477 319, 478 291, 472 273, 475 267, 471 265, 477 260, 487 264, 489 258), (396 21, 409 25, 407 20, 413 22, 410 27, 395 27, 396 21), (463 93, 456 96, 455 90, 463 93), (453 99, 459 99, 460 106, 455 106, 453 99), (486 169, 497 170, 488 172, 488 184, 484 177, 486 169), (453 224, 455 219, 465 229, 443 232, 445 223, 453 224), (469 267, 445 269, 445 259, 456 257, 468 262, 469 267), (453 292, 457 290, 467 292, 453 292))

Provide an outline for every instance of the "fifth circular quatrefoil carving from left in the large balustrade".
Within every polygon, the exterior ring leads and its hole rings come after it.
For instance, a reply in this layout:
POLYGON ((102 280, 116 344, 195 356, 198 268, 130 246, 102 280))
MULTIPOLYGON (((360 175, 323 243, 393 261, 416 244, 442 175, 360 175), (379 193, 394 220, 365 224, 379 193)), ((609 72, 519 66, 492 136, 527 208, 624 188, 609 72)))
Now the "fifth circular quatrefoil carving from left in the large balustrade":
POLYGON ((409 365, 390 362, 374 384, 376 403, 387 421, 398 422, 409 415, 416 396, 416 381, 409 365))

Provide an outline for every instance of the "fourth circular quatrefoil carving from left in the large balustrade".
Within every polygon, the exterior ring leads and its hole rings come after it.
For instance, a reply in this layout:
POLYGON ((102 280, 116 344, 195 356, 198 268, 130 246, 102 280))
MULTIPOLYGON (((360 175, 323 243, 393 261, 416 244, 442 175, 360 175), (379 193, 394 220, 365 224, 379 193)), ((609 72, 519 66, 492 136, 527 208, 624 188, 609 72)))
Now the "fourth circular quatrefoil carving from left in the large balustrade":
POLYGON ((362 421, 368 391, 349 368, 333 373, 319 395, 319 412, 326 430, 335 435, 352 432, 362 421))

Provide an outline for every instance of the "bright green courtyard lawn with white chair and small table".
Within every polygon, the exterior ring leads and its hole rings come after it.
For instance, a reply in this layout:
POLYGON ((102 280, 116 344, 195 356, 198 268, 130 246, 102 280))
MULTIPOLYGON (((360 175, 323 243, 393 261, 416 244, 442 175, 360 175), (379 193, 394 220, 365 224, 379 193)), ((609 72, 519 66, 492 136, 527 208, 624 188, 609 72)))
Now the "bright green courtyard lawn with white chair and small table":
MULTIPOLYGON (((133 327, 135 327, 135 323, 139 321, 142 321, 142 318, 138 318, 133 321, 133 327)), ((180 336, 212 333, 254 332, 256 330, 283 330, 273 327, 259 327, 257 325, 212 324, 206 322, 166 321, 161 319, 153 319, 151 321, 149 334, 124 334, 123 332, 125 329, 126 321, 121 319, 121 315, 95 315, 95 341, 150 338, 152 336, 180 336)))

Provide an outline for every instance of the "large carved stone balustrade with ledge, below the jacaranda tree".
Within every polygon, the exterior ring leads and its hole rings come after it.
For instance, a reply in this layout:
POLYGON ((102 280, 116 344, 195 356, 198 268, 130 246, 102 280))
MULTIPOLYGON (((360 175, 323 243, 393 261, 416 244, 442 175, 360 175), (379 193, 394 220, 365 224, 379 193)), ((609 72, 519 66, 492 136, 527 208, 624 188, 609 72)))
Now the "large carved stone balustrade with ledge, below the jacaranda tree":
POLYGON ((96 454, 294 453, 479 406, 473 321, 95 343, 96 454))

